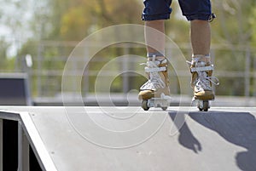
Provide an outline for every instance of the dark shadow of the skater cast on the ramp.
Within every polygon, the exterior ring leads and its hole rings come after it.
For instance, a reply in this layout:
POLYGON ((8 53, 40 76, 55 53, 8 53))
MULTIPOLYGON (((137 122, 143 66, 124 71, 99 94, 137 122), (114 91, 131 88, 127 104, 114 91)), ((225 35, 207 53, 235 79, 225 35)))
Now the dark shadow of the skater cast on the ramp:
MULTIPOLYGON (((180 115, 180 114, 179 114, 180 115)), ((177 111, 170 111, 179 132, 178 141, 189 150, 198 153, 203 145, 195 138, 185 120, 185 115, 177 116, 177 111), (177 120, 178 117, 179 119, 177 120), (180 122, 183 120, 183 126, 180 122)), ((219 134, 224 140, 247 149, 236 153, 236 165, 244 171, 256 170, 256 120, 250 112, 208 111, 189 112, 189 118, 203 127, 219 134)), ((211 140, 209 140, 211 141, 211 140)), ((212 149, 214 150, 214 149, 212 149)), ((230 156, 231 157, 231 156, 230 156)))

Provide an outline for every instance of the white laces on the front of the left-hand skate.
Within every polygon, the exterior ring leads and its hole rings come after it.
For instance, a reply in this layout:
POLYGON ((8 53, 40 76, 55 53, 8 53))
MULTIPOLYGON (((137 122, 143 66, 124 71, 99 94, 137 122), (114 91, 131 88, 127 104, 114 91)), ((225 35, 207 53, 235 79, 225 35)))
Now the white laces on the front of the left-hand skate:
MULTIPOLYGON (((145 70, 147 69, 154 69, 154 68, 159 68, 160 61, 154 60, 154 61, 148 61, 147 63, 143 63, 141 65, 146 66, 145 70)), ((153 89, 156 90, 157 88, 165 88, 166 84, 160 77, 159 71, 149 71, 149 77, 148 77, 148 82, 144 83, 141 89, 153 89)))

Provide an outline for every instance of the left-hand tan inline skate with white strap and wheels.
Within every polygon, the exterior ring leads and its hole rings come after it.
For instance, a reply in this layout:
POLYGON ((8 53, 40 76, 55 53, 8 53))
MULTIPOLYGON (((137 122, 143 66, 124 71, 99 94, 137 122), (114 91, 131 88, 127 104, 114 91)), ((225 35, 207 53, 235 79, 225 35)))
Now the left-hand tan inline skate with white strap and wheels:
POLYGON ((161 107, 166 111, 171 102, 167 60, 164 57, 157 59, 154 55, 143 65, 148 74, 148 82, 143 84, 138 95, 139 100, 143 101, 142 107, 145 111, 150 107, 161 107))

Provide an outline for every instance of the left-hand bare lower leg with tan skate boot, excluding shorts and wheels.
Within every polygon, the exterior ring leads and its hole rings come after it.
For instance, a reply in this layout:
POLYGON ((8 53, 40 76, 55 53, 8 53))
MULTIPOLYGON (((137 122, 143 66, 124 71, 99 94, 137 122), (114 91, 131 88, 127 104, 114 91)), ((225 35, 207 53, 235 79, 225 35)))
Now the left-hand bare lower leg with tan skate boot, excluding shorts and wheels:
POLYGON ((147 45, 148 82, 140 88, 139 99, 148 100, 160 97, 160 94, 170 95, 165 57, 165 20, 150 20, 145 22, 145 41, 147 45), (154 68, 154 69, 153 69, 154 68), (159 71, 156 71, 159 70, 159 71))

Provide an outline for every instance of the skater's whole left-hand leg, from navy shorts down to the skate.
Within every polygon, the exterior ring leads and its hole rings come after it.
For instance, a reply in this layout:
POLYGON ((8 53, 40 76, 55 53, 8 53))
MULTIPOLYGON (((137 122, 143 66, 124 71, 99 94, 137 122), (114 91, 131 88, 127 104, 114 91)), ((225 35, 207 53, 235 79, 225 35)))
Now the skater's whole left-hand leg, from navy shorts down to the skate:
POLYGON ((140 88, 138 97, 143 100, 143 109, 146 110, 150 99, 170 94, 165 57, 165 20, 170 18, 172 0, 144 0, 143 3, 144 36, 148 56, 145 71, 148 81, 140 88))

